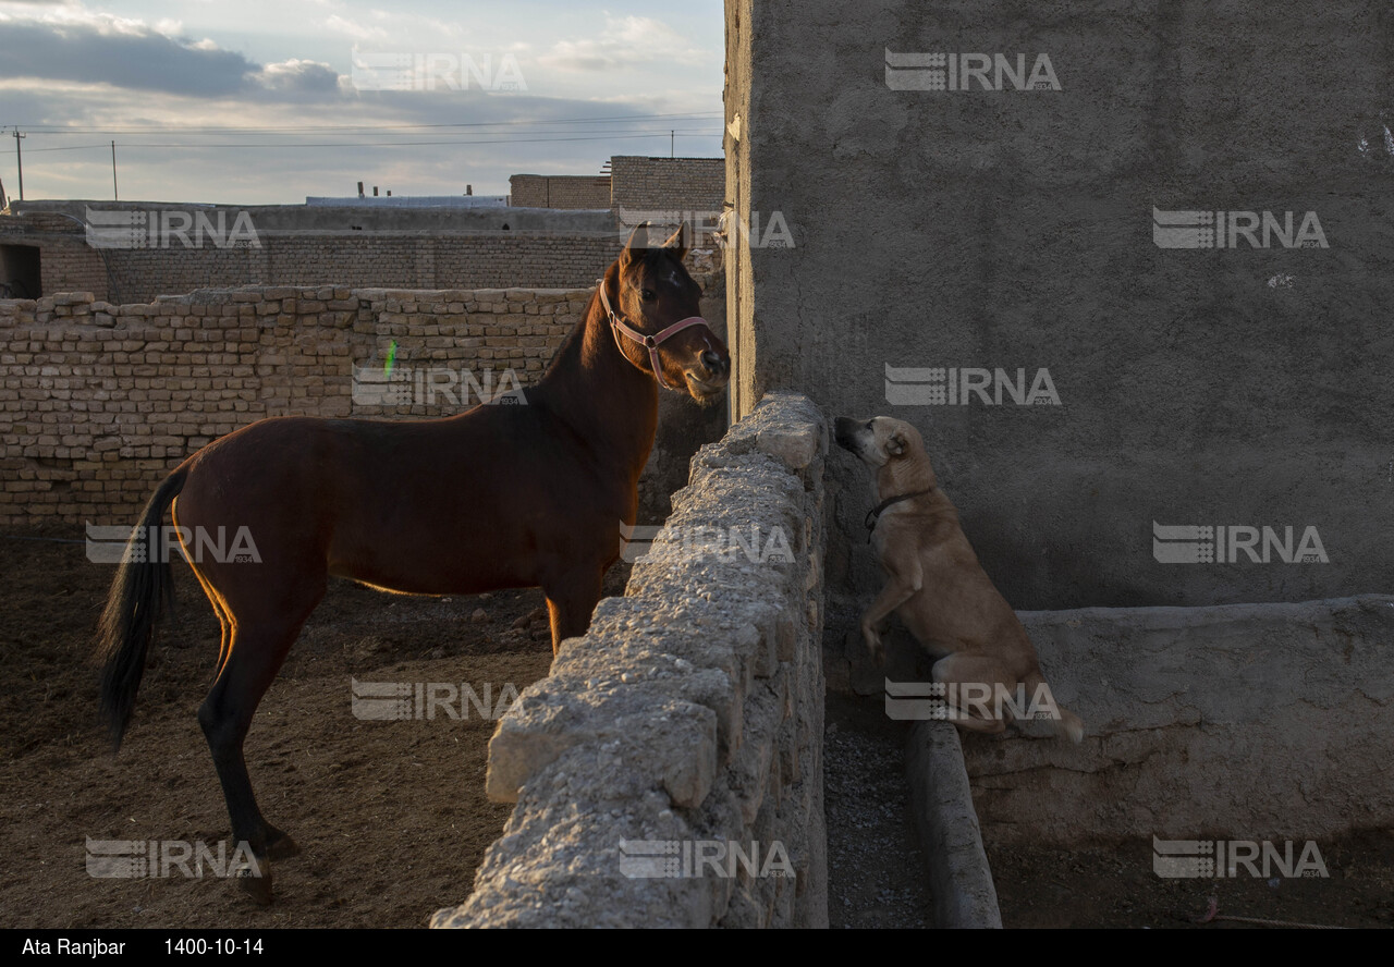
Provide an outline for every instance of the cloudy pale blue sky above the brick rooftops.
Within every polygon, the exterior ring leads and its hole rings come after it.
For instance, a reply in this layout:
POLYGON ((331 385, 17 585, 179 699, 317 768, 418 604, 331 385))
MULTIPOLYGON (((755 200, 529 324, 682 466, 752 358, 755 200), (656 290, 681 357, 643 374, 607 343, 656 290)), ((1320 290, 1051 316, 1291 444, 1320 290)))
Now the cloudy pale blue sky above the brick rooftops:
POLYGON ((505 195, 721 156, 722 68, 722 0, 0 0, 0 181, 18 130, 29 201, 505 195))

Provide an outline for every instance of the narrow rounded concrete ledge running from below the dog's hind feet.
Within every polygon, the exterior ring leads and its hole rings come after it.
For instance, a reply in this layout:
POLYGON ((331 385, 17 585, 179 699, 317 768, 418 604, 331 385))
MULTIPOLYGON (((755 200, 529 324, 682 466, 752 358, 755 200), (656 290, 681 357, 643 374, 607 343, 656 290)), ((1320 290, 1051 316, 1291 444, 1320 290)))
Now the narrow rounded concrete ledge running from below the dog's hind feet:
POLYGON ((905 766, 930 874, 935 927, 999 928, 1002 914, 958 729, 948 722, 916 723, 906 743, 905 766))

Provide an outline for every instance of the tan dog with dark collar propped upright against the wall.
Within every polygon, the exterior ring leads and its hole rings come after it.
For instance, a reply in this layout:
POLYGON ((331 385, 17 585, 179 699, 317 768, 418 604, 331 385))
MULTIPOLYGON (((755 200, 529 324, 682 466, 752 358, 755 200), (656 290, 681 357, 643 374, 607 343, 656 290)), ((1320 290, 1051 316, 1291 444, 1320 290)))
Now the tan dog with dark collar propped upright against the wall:
POLYGON ((1085 723, 1054 705, 1026 628, 977 563, 958 510, 938 488, 920 432, 889 417, 838 417, 836 440, 875 471, 878 504, 867 514, 867 528, 889 581, 861 616, 871 653, 881 659, 880 628, 895 612, 935 659, 934 681, 947 686, 959 726, 1002 732, 1011 706, 984 701, 984 693, 995 697, 1001 687, 1023 695, 1018 708, 1051 709, 1059 736, 1083 738, 1085 723), (1041 694, 1046 701, 1034 702, 1041 694))

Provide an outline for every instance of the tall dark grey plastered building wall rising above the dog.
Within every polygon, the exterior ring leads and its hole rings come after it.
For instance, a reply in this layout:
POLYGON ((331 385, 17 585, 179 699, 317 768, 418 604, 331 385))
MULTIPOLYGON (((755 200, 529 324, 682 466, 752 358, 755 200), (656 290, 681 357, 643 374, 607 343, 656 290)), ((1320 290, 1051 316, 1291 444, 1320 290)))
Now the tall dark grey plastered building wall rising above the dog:
MULTIPOLYGON (((1018 608, 1390 589, 1394 8, 729 0, 726 20, 728 201, 795 237, 728 254, 737 415, 789 387, 913 422, 1018 608), (888 49, 1047 54, 1059 89, 892 89, 888 49), (1163 248, 1154 208, 1294 231, 1313 212, 1327 247, 1163 248), (1044 369, 1059 405, 896 404, 887 365, 1044 369), (1330 563, 1158 563, 1154 521, 1316 527, 1330 563)), ((829 472, 829 587, 866 599, 866 470, 829 472)))

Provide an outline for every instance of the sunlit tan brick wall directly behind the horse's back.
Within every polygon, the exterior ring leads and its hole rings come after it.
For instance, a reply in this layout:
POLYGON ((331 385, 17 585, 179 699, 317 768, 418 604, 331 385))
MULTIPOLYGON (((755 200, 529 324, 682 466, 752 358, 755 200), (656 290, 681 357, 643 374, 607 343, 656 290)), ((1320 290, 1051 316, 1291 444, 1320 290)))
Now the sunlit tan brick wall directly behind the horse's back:
MULTIPOLYGON (((714 291, 703 311, 719 333, 721 286, 696 277, 714 291)), ((528 386, 592 291, 269 287, 137 305, 91 293, 0 301, 0 525, 134 520, 173 467, 262 417, 443 417, 528 386), (393 343, 396 382, 372 382, 393 343)), ((677 468, 723 426, 721 408, 665 400, 640 481, 643 523, 666 516, 677 468)))

